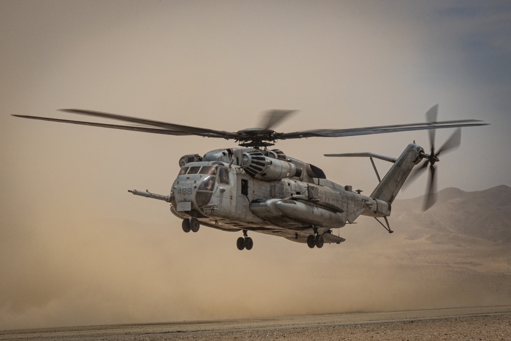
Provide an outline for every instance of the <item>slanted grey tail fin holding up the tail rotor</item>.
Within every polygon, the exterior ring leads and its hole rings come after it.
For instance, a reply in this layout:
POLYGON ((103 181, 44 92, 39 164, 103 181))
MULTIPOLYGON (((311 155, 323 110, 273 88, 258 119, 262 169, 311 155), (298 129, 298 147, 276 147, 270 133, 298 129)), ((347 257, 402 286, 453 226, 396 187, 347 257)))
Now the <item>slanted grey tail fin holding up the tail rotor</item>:
POLYGON ((391 203, 398 195, 413 166, 421 161, 420 153, 424 153, 424 149, 415 143, 410 143, 370 196, 391 203))

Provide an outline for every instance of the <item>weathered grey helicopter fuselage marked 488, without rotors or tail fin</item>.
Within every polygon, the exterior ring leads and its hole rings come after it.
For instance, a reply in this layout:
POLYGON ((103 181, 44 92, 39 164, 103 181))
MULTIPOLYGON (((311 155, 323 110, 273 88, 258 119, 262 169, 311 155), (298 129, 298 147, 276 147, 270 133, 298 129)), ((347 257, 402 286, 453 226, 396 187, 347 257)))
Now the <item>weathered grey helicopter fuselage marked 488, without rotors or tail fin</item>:
MULTIPOLYGON (((219 149, 185 155, 171 192, 172 213, 226 231, 257 231, 306 242, 359 215, 390 215, 388 202, 326 179, 280 150, 219 149)), ((342 238, 326 235, 325 242, 342 238)))

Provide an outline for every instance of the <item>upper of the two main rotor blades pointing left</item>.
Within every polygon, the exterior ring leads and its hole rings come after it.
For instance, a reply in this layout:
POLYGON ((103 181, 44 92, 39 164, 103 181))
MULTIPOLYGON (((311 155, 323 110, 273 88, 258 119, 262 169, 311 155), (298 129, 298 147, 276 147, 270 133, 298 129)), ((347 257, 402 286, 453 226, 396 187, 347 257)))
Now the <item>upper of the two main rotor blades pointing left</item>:
POLYGON ((153 127, 165 128, 174 131, 181 131, 188 133, 190 135, 199 135, 204 137, 212 137, 212 138, 225 138, 225 139, 237 139, 238 135, 234 132, 228 131, 220 131, 199 127, 191 127, 167 122, 160 122, 154 120, 141 119, 137 117, 123 116, 117 115, 115 113, 108 112, 100 112, 100 111, 92 111, 92 110, 82 110, 82 109, 60 109, 60 111, 69 112, 69 113, 78 113, 80 115, 94 116, 94 117, 102 117, 113 120, 120 120, 125 122, 133 122, 145 124, 153 127))

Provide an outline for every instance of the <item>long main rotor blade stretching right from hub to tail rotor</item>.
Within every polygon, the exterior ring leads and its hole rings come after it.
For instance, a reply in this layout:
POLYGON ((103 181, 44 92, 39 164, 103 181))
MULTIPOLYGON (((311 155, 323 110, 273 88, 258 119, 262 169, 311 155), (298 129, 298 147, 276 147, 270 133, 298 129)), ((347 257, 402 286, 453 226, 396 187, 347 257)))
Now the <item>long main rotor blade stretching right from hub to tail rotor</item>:
POLYGON ((323 138, 339 138, 345 136, 356 135, 370 135, 381 134, 387 132, 411 131, 411 130, 427 130, 427 129, 442 129, 442 128, 455 128, 455 127, 473 127, 487 125, 487 123, 470 123, 482 122, 480 120, 456 120, 456 121, 441 121, 436 123, 412 123, 412 124, 398 124, 389 126, 376 126, 365 128, 349 128, 349 129, 314 129, 304 130, 289 133, 276 133, 275 138, 279 140, 285 139, 301 139, 312 137, 323 138))

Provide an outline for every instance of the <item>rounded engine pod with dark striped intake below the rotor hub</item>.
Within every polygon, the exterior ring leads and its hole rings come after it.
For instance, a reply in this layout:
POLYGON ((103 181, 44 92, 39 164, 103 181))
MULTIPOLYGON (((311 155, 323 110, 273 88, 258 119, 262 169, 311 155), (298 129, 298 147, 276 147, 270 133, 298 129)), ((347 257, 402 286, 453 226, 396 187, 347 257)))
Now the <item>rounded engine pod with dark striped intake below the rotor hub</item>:
POLYGON ((243 153, 241 166, 250 176, 264 181, 280 180, 296 174, 294 164, 264 156, 260 151, 243 153))

